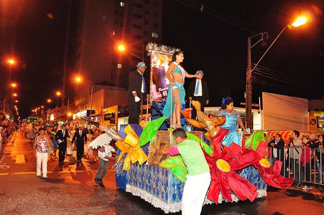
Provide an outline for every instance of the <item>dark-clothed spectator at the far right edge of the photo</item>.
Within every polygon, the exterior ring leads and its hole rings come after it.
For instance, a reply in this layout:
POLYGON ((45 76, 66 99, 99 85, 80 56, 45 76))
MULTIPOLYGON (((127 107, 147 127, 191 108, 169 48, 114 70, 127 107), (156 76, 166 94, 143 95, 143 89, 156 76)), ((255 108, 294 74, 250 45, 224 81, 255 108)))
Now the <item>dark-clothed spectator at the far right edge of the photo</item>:
MULTIPOLYGON (((323 157, 324 154, 322 154, 322 157, 321 157, 321 153, 323 150, 318 149, 318 148, 322 148, 322 146, 323 146, 323 138, 324 138, 324 134, 318 135, 318 140, 315 143, 310 144, 310 146, 309 146, 310 148, 313 148, 315 150, 315 164, 316 164, 316 169, 318 172, 315 182, 317 182, 317 183, 324 183, 323 182, 324 181, 323 180, 324 166, 322 166, 322 168, 320 167, 320 163, 322 163, 324 160, 324 157, 323 157)), ((315 173, 316 173, 316 171, 315 171, 315 173)))

